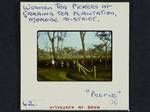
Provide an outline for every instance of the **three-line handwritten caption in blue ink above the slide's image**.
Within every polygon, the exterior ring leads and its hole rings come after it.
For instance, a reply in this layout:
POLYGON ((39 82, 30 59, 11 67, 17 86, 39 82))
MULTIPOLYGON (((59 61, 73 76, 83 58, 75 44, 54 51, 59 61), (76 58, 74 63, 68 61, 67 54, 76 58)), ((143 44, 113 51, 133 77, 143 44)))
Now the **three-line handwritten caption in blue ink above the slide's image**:
POLYGON ((27 3, 22 10, 23 18, 32 23, 99 22, 102 16, 117 16, 109 3, 27 3))

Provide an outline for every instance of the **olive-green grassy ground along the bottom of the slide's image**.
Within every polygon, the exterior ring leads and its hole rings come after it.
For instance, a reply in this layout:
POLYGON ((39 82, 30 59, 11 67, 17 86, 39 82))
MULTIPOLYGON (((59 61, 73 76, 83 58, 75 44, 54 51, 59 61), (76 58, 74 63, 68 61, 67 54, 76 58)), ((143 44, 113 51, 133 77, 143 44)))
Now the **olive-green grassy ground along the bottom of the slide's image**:
POLYGON ((38 68, 37 79, 38 81, 111 81, 112 74, 111 67, 105 70, 102 65, 97 66, 96 78, 93 73, 84 75, 68 69, 38 68))

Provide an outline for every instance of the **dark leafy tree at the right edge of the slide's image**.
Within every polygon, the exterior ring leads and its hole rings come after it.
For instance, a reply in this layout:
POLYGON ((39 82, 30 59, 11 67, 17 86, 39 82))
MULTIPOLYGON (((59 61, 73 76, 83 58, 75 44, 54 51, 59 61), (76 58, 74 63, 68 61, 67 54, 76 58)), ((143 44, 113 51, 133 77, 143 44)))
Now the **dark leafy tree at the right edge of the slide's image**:
POLYGON ((100 47, 104 48, 105 51, 105 68, 108 68, 108 49, 111 48, 111 32, 108 31, 101 31, 96 32, 96 36, 102 41, 100 47))

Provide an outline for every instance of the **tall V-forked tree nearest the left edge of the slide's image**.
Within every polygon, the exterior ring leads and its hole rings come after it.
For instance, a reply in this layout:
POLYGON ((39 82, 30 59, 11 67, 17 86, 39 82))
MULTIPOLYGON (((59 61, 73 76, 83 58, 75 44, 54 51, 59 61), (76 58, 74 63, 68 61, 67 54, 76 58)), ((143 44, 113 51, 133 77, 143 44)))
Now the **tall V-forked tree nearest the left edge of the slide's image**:
POLYGON ((56 58, 57 58, 56 52, 55 52, 55 39, 56 39, 55 33, 56 33, 55 31, 54 31, 54 32, 47 32, 49 41, 51 42, 51 46, 52 46, 52 54, 53 54, 54 60, 56 60, 56 58))

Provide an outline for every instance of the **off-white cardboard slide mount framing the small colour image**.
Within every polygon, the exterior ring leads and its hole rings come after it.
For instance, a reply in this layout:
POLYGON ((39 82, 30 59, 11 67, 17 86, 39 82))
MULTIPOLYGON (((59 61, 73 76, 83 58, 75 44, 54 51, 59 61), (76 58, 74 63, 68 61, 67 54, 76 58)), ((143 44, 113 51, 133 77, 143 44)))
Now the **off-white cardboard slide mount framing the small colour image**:
MULTIPOLYGON (((79 2, 82 4, 82 2, 79 2)), ((29 23, 23 17, 25 4, 54 5, 54 2, 21 2, 21 110, 50 110, 49 105, 99 105, 101 110, 129 110, 129 3, 112 2, 117 17, 102 17, 101 22, 29 23), (110 82, 38 82, 37 44, 38 30, 112 30, 113 32, 113 81, 110 82), (118 104, 108 98, 91 98, 85 90, 102 93, 121 91, 118 104), (36 106, 24 106, 33 101, 36 106)), ((70 5, 71 2, 65 4, 70 5)), ((89 4, 86 2, 84 4, 89 4)), ((90 4, 105 4, 95 2, 90 4)), ((77 108, 75 108, 76 110, 77 108)), ((86 110, 87 108, 85 108, 86 110)))

